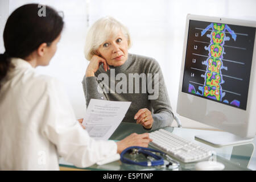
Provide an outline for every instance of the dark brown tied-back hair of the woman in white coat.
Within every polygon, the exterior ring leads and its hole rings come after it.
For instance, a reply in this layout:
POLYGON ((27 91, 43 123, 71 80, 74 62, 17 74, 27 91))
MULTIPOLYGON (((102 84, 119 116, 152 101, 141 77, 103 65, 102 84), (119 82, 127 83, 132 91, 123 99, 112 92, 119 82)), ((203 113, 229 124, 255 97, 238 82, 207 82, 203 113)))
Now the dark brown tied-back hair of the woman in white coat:
MULTIPOLYGON (((63 18, 52 7, 46 6, 46 15, 39 16, 39 4, 18 7, 7 19, 3 31, 5 53, 0 54, 0 84, 13 65, 10 57, 24 59, 40 44, 50 46, 63 30, 63 18)), ((1 88, 1 85, 0 85, 1 88)))

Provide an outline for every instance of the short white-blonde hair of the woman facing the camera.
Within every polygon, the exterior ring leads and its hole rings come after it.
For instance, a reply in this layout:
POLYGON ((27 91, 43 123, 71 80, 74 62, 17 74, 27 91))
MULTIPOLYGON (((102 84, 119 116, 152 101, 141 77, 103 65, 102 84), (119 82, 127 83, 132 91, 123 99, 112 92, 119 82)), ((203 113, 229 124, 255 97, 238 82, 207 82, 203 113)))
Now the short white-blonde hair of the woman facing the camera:
POLYGON ((131 38, 128 29, 116 19, 106 16, 98 19, 92 27, 89 28, 86 40, 84 54, 87 60, 92 59, 93 55, 97 55, 96 51, 102 43, 104 43, 110 36, 116 35, 122 31, 126 36, 128 48, 131 47, 131 38))

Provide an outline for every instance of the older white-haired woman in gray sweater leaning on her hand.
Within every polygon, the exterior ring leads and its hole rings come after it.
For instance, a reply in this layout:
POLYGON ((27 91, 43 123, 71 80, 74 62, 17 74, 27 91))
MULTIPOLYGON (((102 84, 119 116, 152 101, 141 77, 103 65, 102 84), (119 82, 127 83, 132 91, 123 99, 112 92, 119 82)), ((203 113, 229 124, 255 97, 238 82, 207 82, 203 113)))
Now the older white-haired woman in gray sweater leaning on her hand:
POLYGON ((91 98, 130 101, 123 122, 147 130, 170 126, 174 114, 158 62, 128 53, 130 47, 127 28, 114 18, 101 18, 89 29, 85 57, 90 63, 82 80, 86 106, 91 98))

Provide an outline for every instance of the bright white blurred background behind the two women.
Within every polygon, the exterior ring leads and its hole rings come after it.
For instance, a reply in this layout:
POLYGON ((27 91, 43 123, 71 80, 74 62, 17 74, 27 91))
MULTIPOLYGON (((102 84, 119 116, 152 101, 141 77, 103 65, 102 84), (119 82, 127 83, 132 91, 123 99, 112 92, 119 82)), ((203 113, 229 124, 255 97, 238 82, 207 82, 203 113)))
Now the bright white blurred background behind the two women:
MULTIPOLYGON (((81 84, 88 65, 84 57, 86 31, 97 19, 109 15, 125 24, 133 40, 129 52, 159 62, 174 113, 187 14, 256 21, 254 0, 0 0, 0 53, 5 52, 2 35, 8 16, 17 7, 32 2, 64 12, 65 28, 56 55, 48 67, 36 69, 63 82, 77 118, 83 118, 86 112, 81 84)), ((214 129, 191 119, 180 120, 183 127, 214 129)))

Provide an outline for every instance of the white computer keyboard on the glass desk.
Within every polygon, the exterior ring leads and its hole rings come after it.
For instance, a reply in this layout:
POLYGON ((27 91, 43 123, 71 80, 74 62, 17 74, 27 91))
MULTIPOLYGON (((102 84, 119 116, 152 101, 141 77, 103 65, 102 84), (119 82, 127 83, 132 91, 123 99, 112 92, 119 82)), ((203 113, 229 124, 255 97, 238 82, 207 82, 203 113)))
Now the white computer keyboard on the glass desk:
POLYGON ((149 134, 152 139, 152 142, 150 142, 152 147, 159 148, 184 163, 207 159, 213 154, 213 151, 164 129, 159 129, 149 134))

